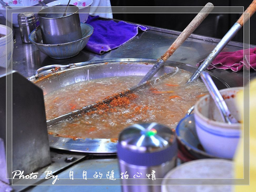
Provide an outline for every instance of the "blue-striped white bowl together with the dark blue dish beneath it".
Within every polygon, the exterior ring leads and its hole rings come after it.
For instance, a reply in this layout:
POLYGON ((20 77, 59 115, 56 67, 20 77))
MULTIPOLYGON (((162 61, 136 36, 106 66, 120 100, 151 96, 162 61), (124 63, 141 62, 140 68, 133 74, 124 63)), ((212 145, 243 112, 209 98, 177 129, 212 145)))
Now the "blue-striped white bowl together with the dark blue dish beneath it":
MULTIPOLYGON (((231 114, 240 122, 236 96, 242 87, 220 90, 231 114)), ((178 140, 195 159, 232 159, 241 135, 241 124, 222 121, 210 95, 203 96, 194 106, 194 114, 183 118, 177 128, 178 140)))

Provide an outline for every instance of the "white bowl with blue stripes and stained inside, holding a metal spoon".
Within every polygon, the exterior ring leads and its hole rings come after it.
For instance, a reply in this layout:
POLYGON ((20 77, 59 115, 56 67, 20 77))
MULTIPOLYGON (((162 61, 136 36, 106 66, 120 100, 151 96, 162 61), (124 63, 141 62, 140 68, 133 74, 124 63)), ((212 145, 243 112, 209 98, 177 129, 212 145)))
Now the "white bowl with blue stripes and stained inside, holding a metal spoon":
MULTIPOLYGON (((242 87, 220 90, 231 114, 238 121, 241 120, 241 115, 236 105, 236 95, 242 90, 242 87)), ((204 150, 219 158, 232 159, 236 152, 242 125, 223 122, 210 95, 206 95, 196 102, 194 118, 196 132, 204 150)))

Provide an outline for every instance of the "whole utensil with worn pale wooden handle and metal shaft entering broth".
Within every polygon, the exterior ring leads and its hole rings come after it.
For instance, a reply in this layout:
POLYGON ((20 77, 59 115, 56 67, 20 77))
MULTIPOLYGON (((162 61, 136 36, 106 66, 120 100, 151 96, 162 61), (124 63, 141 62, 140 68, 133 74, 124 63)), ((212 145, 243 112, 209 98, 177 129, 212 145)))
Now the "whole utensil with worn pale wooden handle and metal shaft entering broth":
POLYGON ((150 80, 164 65, 164 62, 168 60, 175 50, 194 32, 194 30, 202 23, 202 21, 208 16, 213 10, 214 6, 212 3, 207 3, 204 8, 196 15, 196 17, 188 24, 188 26, 182 31, 178 38, 172 43, 170 48, 162 55, 156 64, 148 71, 148 73, 142 78, 139 84, 142 84, 150 80))

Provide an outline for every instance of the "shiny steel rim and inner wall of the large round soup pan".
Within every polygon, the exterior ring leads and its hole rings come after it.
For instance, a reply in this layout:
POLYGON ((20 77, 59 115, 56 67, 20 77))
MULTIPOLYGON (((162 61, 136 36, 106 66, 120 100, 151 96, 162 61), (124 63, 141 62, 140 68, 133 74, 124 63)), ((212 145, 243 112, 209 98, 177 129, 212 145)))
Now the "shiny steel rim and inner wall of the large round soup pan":
MULTIPOLYGON (((28 79, 42 88, 44 94, 48 94, 58 88, 86 80, 112 76, 144 76, 155 63, 156 60, 127 58, 81 62, 66 66, 45 66, 28 79)), ((196 70, 194 66, 167 61, 155 76, 170 73, 176 70, 176 67, 192 73, 196 70)), ((214 74, 211 75, 219 89, 229 87, 222 79, 214 74)), ((49 142, 52 148, 69 151, 98 154, 116 153, 116 141, 112 141, 110 138, 73 140, 72 138, 55 137, 49 134, 49 142)))

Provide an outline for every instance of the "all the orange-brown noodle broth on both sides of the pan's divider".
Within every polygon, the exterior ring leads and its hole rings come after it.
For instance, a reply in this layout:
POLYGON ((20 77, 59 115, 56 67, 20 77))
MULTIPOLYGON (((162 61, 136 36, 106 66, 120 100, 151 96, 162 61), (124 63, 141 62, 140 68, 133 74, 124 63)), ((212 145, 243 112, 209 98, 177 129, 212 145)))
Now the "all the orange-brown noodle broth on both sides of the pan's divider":
MULTIPOLYGON (((60 137, 118 138, 126 127, 142 122, 157 122, 176 128, 203 95, 208 94, 203 82, 187 84, 191 73, 179 70, 155 84, 101 105, 48 127, 48 133, 60 137)), ((140 82, 141 76, 123 76, 79 82, 46 94, 46 116, 52 118, 102 100, 140 82)))

